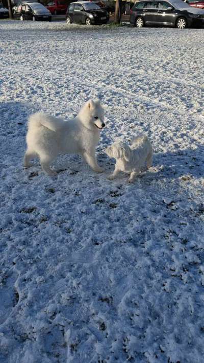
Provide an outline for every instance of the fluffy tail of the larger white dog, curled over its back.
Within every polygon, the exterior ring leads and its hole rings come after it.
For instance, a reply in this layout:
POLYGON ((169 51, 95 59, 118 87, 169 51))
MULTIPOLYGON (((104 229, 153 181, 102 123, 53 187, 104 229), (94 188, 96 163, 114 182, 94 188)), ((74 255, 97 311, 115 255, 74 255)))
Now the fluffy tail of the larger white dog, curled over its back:
POLYGON ((50 116, 49 114, 45 114, 44 112, 37 112, 29 117, 29 128, 38 128, 44 126, 51 131, 57 131, 61 129, 64 125, 64 121, 62 119, 58 119, 56 117, 50 116))

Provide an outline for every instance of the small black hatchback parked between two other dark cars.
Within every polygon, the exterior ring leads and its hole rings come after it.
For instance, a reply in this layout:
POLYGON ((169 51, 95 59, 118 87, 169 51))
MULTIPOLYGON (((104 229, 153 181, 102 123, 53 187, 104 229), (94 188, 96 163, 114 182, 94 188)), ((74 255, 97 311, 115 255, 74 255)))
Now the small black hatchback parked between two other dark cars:
POLYGON ((66 12, 66 22, 71 24, 106 24, 109 20, 109 14, 106 10, 100 9, 98 5, 91 2, 71 3, 66 12))

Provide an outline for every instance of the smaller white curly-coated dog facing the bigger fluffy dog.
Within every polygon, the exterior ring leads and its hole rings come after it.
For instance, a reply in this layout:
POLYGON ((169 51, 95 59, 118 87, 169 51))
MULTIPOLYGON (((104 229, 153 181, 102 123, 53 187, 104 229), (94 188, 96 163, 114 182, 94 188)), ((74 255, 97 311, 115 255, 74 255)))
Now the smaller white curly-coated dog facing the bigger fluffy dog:
POLYGON ((146 135, 139 135, 130 146, 116 141, 105 152, 116 159, 115 170, 109 179, 114 179, 123 171, 130 174, 129 182, 133 182, 141 171, 152 165, 152 146, 146 135))

